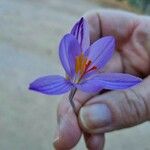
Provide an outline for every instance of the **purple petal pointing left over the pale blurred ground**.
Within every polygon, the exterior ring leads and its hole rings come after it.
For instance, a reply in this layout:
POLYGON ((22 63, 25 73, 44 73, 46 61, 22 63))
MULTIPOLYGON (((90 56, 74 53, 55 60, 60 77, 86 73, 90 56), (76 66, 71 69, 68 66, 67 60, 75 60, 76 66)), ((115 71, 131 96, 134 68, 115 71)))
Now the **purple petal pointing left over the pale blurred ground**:
POLYGON ((29 89, 47 95, 57 95, 68 92, 72 84, 59 75, 38 78, 30 84, 29 89))

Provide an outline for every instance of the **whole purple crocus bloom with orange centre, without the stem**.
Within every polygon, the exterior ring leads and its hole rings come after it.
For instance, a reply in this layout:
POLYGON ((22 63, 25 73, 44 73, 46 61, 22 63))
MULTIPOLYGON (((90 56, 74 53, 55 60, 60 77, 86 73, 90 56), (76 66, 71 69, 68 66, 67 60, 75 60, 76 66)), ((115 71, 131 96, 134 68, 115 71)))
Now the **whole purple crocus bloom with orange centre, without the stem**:
POLYGON ((113 36, 102 37, 90 45, 88 24, 81 18, 60 42, 59 57, 66 77, 40 77, 29 88, 48 95, 63 94, 74 88, 93 93, 101 89, 126 89, 141 82, 129 74, 102 72, 114 49, 113 36))

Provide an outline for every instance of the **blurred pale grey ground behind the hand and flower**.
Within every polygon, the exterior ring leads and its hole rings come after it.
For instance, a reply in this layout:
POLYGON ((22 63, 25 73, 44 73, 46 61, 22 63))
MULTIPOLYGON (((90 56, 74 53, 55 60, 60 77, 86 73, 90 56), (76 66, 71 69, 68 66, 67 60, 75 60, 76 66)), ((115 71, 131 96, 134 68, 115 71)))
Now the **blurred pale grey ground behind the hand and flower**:
MULTIPOLYGON (((58 43, 80 16, 100 7, 150 14, 149 0, 0 0, 0 150, 53 150, 60 97, 28 90, 62 74, 58 43)), ((150 150, 150 126, 106 135, 105 150, 150 150)), ((84 150, 80 142, 75 150, 84 150)))

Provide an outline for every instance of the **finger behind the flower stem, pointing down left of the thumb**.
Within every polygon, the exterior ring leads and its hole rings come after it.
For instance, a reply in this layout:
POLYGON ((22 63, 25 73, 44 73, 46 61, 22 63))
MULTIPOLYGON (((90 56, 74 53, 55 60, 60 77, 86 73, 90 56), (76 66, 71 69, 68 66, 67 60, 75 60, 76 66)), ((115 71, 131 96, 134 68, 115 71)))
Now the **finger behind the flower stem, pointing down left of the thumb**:
MULTIPOLYGON (((74 103, 76 110, 93 95, 77 91, 74 96, 74 103)), ((78 125, 78 120, 68 100, 68 95, 61 101, 58 107, 58 128, 54 140, 54 147, 56 149, 68 150, 73 148, 81 137, 81 130, 78 125)))

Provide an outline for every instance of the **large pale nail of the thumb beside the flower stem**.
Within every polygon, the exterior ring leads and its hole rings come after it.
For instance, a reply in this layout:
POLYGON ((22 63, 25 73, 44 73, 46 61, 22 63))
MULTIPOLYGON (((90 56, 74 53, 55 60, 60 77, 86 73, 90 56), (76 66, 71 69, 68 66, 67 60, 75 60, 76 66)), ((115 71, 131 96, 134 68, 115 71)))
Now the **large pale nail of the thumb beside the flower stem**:
POLYGON ((80 110, 80 120, 86 129, 99 129, 111 124, 112 115, 105 104, 93 104, 80 110))

